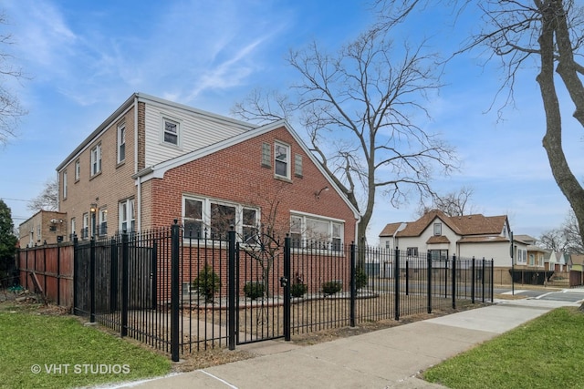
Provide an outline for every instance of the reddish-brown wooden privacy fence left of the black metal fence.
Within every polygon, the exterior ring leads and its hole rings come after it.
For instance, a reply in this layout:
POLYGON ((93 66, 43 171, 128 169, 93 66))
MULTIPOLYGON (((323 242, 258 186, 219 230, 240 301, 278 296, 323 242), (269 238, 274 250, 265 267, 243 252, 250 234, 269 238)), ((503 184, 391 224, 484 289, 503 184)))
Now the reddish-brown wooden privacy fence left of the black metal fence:
POLYGON ((73 244, 47 244, 18 251, 20 285, 59 306, 73 306, 73 244))

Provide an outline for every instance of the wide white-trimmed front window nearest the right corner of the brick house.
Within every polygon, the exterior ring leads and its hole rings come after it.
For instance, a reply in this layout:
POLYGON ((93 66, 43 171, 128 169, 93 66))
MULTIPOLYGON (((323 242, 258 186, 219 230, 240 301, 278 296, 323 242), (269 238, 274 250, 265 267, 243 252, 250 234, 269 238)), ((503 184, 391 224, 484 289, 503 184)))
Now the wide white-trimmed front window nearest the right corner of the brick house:
POLYGON ((341 251, 345 223, 317 215, 291 215, 290 238, 294 248, 318 247, 341 251))

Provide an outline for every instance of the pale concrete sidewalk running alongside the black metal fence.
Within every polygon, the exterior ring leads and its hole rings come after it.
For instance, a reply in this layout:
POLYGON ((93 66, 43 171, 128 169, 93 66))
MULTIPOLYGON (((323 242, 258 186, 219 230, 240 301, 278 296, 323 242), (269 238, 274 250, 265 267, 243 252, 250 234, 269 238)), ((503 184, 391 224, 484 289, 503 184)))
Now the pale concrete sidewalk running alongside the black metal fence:
POLYGON ((423 370, 574 302, 499 300, 495 305, 412 322, 373 333, 300 347, 255 343, 259 356, 175 374, 125 388, 439 388, 423 370))

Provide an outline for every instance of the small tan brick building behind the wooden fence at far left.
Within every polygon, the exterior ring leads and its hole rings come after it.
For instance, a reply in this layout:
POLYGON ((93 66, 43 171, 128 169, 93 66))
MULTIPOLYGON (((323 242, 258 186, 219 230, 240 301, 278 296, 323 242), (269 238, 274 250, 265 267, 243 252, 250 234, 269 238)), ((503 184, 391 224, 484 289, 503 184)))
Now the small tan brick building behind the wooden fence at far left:
POLYGON ((67 237, 67 214, 52 210, 39 210, 18 226, 19 247, 54 244, 67 237))

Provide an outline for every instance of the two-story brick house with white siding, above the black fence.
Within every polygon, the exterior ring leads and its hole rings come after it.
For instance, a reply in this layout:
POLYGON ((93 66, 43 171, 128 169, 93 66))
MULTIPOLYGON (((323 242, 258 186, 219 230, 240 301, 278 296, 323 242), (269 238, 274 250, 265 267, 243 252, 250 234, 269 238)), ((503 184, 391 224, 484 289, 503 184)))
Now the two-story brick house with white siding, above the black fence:
MULTIPOLYGON (((257 127, 141 93, 58 167, 59 210, 81 240, 179 220, 193 236, 355 240, 359 212, 286 121, 257 127)), ((299 244, 299 243, 297 243, 299 244)))

